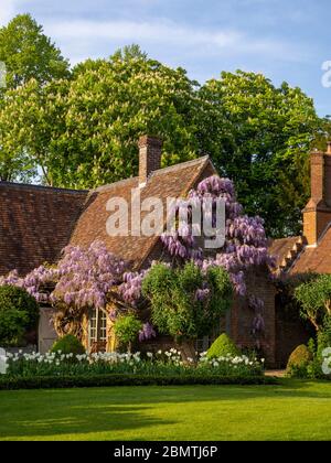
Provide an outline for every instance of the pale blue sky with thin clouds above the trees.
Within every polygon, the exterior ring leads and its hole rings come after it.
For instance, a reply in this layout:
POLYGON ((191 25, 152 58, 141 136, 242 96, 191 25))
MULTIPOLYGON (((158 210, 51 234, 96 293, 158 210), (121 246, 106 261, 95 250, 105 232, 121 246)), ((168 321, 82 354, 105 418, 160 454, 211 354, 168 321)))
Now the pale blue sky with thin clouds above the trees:
POLYGON ((237 68, 287 80, 331 114, 330 0, 0 0, 0 24, 30 12, 65 57, 109 56, 138 43, 199 82, 237 68))

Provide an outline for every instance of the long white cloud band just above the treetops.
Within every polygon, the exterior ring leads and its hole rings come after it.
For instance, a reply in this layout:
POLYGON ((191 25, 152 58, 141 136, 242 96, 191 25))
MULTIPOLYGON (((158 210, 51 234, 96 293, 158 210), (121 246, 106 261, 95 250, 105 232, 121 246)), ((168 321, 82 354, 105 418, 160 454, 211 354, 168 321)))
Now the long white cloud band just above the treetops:
POLYGON ((173 49, 196 56, 266 55, 268 58, 306 61, 299 49, 281 40, 252 37, 235 29, 203 29, 182 25, 169 20, 93 21, 74 20, 45 22, 45 32, 55 39, 72 63, 84 57, 100 56, 107 46, 138 43, 142 47, 173 49))

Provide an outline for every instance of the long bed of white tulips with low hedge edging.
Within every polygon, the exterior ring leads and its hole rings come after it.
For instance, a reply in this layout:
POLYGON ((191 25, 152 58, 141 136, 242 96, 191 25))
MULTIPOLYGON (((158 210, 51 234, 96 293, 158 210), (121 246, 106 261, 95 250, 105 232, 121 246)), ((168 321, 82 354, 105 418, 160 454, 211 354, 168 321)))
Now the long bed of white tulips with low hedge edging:
POLYGON ((9 355, 0 389, 148 385, 266 385, 263 362, 245 355, 182 360, 175 348, 141 355, 120 353, 9 355))

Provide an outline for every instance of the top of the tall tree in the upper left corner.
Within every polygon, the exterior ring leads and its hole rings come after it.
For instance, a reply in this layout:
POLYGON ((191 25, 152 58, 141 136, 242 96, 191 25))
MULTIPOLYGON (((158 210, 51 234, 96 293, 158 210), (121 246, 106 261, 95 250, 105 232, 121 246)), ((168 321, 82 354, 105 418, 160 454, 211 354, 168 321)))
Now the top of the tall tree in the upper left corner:
POLYGON ((31 78, 41 85, 68 77, 68 62, 30 14, 18 14, 0 29, 0 61, 7 68, 7 87, 31 78))

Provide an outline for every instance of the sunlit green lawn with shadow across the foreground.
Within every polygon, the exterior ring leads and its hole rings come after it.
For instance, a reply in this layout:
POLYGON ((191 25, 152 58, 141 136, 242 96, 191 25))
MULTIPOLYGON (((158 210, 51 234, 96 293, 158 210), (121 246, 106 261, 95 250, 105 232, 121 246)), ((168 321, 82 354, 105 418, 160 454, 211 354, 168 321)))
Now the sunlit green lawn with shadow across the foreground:
POLYGON ((1 440, 330 440, 331 383, 0 391, 1 440))

